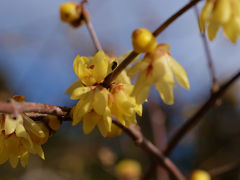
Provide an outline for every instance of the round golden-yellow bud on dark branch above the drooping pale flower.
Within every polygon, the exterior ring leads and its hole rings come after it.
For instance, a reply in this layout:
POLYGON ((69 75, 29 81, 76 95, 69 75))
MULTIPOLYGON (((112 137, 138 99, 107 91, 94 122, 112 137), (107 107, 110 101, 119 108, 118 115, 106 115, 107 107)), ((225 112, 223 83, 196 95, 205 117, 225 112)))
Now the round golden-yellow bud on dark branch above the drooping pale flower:
POLYGON ((155 50, 157 47, 157 40, 149 30, 139 28, 132 33, 132 44, 134 51, 146 53, 155 50))

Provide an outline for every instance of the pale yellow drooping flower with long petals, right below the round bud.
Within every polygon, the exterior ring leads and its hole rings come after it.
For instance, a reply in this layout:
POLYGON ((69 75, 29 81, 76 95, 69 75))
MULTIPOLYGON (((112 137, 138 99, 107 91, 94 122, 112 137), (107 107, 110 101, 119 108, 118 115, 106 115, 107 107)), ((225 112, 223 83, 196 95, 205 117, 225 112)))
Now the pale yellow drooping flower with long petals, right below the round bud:
POLYGON ((174 103, 173 87, 176 85, 174 76, 179 84, 189 89, 189 81, 184 68, 170 55, 170 46, 159 44, 154 52, 147 53, 129 70, 129 76, 139 73, 132 95, 138 104, 143 103, 149 94, 152 84, 166 104, 174 103))

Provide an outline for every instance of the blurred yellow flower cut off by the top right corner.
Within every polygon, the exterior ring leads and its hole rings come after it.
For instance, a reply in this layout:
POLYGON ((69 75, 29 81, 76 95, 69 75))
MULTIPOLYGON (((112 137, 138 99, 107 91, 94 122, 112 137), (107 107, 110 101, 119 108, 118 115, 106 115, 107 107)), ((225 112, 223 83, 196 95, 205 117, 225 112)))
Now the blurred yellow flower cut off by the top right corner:
POLYGON ((214 40, 222 26, 225 36, 231 42, 236 43, 240 35, 240 1, 206 0, 199 17, 199 27, 202 33, 206 25, 211 41, 214 40))

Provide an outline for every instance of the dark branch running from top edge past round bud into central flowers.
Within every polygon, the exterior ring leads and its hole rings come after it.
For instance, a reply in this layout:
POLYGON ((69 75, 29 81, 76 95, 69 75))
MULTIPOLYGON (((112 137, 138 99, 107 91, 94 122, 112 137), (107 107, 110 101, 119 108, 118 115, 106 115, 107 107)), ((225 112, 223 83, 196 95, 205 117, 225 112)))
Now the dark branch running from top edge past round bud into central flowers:
MULTIPOLYGON (((163 32, 170 24, 172 24, 178 17, 191 9, 194 5, 196 5, 201 0, 192 0, 188 4, 186 4, 183 8, 173 14, 169 19, 167 19, 163 24, 161 24, 154 32, 153 35, 157 37, 161 32, 163 32)), ((132 51, 126 59, 112 72, 110 73, 103 82, 105 87, 109 87, 111 82, 117 78, 117 76, 137 57, 139 53, 132 51)))

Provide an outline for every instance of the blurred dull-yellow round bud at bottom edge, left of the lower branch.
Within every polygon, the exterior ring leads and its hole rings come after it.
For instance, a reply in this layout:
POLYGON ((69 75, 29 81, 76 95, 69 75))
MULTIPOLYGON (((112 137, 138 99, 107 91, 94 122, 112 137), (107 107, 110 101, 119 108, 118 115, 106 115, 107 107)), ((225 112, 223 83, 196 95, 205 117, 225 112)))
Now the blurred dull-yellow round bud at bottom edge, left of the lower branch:
POLYGON ((115 167, 115 174, 119 180, 140 180, 141 166, 131 159, 120 161, 115 167))

